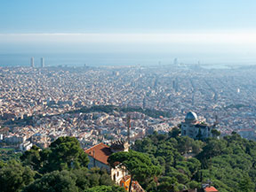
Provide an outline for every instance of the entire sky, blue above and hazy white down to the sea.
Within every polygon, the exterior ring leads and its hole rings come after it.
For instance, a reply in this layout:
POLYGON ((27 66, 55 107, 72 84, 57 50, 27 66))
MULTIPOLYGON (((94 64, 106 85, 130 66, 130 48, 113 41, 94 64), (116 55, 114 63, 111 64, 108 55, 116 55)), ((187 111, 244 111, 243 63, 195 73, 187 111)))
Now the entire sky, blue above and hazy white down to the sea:
POLYGON ((253 0, 2 0, 0 55, 164 53, 254 62, 255 10, 253 0))

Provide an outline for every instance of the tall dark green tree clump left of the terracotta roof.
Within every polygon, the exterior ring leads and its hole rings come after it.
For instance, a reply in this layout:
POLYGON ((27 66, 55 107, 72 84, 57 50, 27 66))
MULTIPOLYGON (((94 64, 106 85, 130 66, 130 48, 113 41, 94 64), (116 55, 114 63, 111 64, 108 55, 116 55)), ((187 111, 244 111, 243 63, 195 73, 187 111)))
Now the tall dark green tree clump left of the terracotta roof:
POLYGON ((58 138, 48 149, 40 150, 33 146, 20 157, 20 160, 39 173, 79 169, 89 163, 89 158, 76 138, 68 136, 58 138))

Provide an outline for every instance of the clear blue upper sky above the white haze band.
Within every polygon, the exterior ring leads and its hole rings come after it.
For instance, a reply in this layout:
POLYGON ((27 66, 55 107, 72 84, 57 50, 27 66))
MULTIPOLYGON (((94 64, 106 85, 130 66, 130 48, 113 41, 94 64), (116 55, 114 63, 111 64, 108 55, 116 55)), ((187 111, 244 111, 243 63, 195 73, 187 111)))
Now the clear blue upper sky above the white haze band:
POLYGON ((2 0, 1 33, 247 30, 253 0, 2 0))

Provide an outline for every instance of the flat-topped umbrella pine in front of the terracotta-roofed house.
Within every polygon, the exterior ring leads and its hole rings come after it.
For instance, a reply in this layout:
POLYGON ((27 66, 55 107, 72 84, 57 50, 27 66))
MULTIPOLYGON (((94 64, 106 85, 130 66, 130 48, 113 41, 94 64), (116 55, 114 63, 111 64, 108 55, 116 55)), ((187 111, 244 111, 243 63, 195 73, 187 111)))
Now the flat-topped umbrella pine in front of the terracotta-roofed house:
POLYGON ((129 191, 131 191, 133 179, 143 183, 148 177, 161 173, 161 168, 153 165, 146 154, 134 150, 117 152, 108 157, 108 163, 112 167, 116 167, 116 162, 120 167, 124 166, 131 174, 129 191))

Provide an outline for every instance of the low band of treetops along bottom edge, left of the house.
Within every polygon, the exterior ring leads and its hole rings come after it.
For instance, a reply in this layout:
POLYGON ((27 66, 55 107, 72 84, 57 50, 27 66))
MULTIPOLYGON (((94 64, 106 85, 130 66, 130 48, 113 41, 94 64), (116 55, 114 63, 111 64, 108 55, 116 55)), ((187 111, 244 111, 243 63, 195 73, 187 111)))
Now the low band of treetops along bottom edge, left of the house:
MULTIPOLYGON (((93 168, 88 171, 86 168, 74 169, 72 171, 62 170, 45 173, 40 179, 35 180, 24 192, 43 191, 79 191, 84 192, 97 186, 114 187, 114 182, 106 171, 93 168)), ((118 191, 116 189, 116 191, 118 191)))

